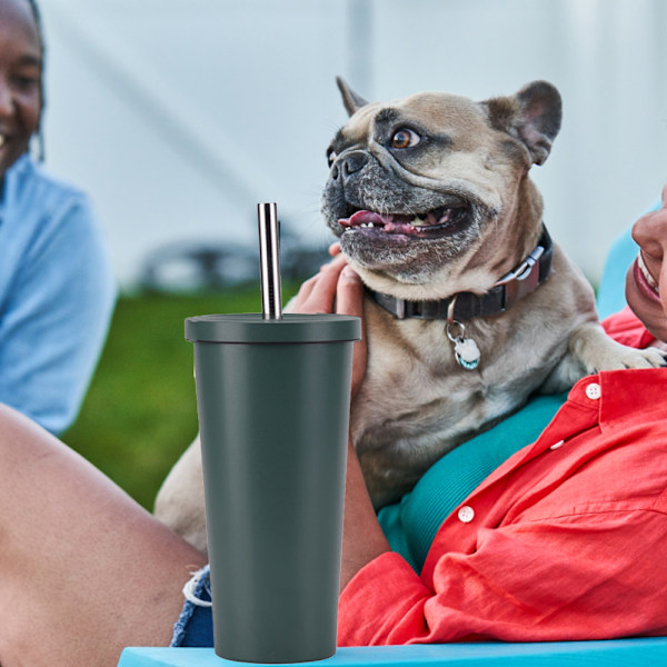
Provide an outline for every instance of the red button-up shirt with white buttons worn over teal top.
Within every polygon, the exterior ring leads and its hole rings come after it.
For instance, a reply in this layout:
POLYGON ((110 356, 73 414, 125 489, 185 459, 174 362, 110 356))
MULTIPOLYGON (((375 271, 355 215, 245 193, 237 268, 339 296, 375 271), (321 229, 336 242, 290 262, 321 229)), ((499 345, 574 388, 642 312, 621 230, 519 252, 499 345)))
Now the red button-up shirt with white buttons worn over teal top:
MULTIPOLYGON (((650 340, 628 312, 608 329, 650 340)), ((341 646, 664 634, 667 368, 580 380, 442 524, 420 576, 387 552, 339 603, 341 646)))

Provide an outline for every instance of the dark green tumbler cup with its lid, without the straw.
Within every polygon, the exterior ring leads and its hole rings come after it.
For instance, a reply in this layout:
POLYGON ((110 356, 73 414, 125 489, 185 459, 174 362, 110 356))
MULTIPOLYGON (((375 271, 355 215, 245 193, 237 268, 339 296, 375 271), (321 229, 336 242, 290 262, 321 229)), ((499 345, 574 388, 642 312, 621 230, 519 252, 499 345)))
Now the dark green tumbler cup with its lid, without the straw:
POLYGON ((186 327, 195 341, 216 654, 252 663, 330 657, 359 320, 208 317, 223 319, 213 335, 203 318, 186 327))

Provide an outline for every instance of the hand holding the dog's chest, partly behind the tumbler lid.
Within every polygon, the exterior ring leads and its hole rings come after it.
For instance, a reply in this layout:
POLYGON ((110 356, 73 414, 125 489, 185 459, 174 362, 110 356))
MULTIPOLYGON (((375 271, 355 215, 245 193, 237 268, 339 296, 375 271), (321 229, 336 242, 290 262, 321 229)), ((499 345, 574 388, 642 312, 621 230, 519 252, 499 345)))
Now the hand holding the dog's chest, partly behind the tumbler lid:
MULTIPOLYGON (((325 265, 320 272, 309 278, 301 285, 299 292, 290 305, 292 312, 337 312, 339 315, 364 316, 364 285, 357 273, 348 266, 346 258, 340 253, 340 246, 334 243, 329 248, 334 259, 325 265)), ((352 359, 352 388, 355 398, 364 376, 368 348, 366 346, 366 328, 361 320, 361 340, 355 344, 352 359)))

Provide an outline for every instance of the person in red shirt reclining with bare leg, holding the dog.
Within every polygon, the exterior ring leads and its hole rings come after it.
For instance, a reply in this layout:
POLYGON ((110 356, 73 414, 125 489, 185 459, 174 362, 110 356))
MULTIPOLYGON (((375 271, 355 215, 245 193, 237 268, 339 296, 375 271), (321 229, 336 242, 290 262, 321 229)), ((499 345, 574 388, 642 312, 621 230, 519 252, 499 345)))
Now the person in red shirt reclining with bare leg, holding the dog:
MULTIPOLYGON (((639 220, 626 342, 667 339, 667 188, 639 220), (644 322, 644 326, 639 322, 644 322)), ((361 315, 340 257, 302 312, 361 315)), ((354 388, 364 377, 357 344, 354 388)), ((418 574, 389 548, 350 448, 339 643, 667 633, 667 368, 601 372, 437 527, 418 574)), ((456 450, 455 450, 456 451, 456 450)), ((113 667, 167 646, 206 556, 28 418, 0 406, 0 665, 113 667)))

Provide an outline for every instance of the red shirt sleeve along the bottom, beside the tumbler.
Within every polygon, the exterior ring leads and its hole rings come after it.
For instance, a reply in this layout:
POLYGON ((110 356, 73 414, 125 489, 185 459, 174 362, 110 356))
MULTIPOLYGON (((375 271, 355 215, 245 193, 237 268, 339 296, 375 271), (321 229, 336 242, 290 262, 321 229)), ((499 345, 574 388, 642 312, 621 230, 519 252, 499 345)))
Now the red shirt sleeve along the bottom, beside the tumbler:
POLYGON ((472 554, 439 557, 431 585, 385 554, 342 591, 339 645, 660 634, 666 557, 667 517, 646 509, 484 529, 472 554))

